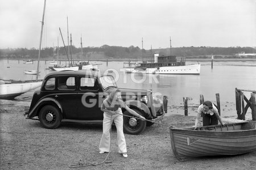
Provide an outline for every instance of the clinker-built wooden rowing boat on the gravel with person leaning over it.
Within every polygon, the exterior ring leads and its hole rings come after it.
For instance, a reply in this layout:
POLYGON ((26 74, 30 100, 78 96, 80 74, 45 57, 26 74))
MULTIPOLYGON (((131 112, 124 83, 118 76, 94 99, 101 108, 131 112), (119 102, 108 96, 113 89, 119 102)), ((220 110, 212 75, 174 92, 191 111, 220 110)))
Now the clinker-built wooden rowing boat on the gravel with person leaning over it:
POLYGON ((238 155, 256 150, 256 121, 202 126, 196 130, 170 126, 172 151, 178 160, 238 155))

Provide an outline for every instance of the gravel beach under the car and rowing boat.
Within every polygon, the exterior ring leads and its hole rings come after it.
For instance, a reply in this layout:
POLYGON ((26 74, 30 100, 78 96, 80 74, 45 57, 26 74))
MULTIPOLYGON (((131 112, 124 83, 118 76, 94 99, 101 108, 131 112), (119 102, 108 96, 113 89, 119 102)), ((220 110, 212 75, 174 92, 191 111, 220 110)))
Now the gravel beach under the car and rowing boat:
MULTIPOLYGON (((26 120, 24 108, 30 106, 33 91, 0 100, 0 169, 71 169, 69 165, 102 162, 98 154, 102 134, 100 124, 62 123, 57 129, 44 129, 39 121, 26 120)), ((196 107, 168 105, 163 124, 187 128, 195 124, 196 107)), ((236 105, 221 106, 224 122, 236 121, 236 105), (227 113, 227 114, 226 114, 227 113), (233 113, 233 114, 232 114, 233 113), (231 115, 231 116, 230 116, 231 115)), ((249 114, 249 113, 247 113, 249 114)), ((249 115, 250 116, 250 115, 249 115)), ((256 152, 237 156, 199 158, 179 162, 172 154, 168 126, 154 124, 139 135, 125 134, 128 158, 118 154, 116 129, 112 128, 112 148, 108 162, 76 169, 254 169, 256 152)), ((75 168, 72 168, 75 169, 75 168)))

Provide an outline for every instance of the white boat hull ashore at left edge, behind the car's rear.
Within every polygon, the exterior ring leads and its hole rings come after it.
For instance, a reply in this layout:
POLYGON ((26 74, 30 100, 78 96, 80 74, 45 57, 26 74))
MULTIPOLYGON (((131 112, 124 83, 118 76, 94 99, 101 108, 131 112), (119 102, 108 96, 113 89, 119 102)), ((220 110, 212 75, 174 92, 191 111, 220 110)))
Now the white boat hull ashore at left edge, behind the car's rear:
POLYGON ((14 99, 30 90, 40 87, 42 80, 4 81, 0 84, 0 99, 14 99))

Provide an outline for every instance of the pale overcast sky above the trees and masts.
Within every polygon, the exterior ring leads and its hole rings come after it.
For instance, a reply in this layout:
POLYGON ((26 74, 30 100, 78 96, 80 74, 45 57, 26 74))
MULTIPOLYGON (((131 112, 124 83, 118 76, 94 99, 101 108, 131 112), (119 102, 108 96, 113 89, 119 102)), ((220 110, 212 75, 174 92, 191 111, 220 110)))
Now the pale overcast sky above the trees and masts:
MULTIPOLYGON (((39 48, 44 0, 0 0, 0 49, 39 48)), ((256 0, 47 0, 42 47, 256 46, 256 0)))

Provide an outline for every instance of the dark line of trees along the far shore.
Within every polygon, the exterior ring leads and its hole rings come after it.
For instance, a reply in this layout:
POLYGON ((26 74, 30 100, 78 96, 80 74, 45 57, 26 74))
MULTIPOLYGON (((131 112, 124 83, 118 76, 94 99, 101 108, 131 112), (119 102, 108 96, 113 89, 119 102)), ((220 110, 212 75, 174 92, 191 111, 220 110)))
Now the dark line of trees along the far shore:
MULTIPOLYGON (((67 46, 60 47, 59 49, 49 47, 43 48, 41 50, 41 58, 51 58, 57 55, 66 56, 67 46), (66 49, 65 49, 66 48, 66 49)), ((142 58, 153 56, 154 53, 158 52, 160 56, 181 56, 181 57, 191 57, 191 56, 208 56, 208 55, 236 55, 238 53, 255 53, 255 49, 251 47, 210 47, 210 46, 200 46, 200 47, 177 47, 177 48, 165 48, 165 49, 141 49, 138 46, 109 46, 102 45, 100 47, 84 47, 76 48, 75 46, 69 46, 69 55, 81 55, 90 56, 92 54, 102 54, 106 58, 142 58)), ((39 50, 35 48, 16 48, 16 49, 0 49, 0 57, 3 58, 38 58, 39 50)))

